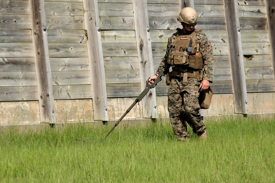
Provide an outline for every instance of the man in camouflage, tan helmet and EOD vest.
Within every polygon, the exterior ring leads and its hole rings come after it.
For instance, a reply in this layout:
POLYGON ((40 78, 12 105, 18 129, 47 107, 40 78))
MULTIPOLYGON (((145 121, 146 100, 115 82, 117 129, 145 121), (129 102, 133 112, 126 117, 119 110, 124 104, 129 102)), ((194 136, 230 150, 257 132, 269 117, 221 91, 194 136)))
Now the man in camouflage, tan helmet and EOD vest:
POLYGON ((168 38, 167 50, 151 84, 165 64, 172 66, 166 76, 168 111, 178 140, 189 140, 186 122, 200 138, 207 138, 205 124, 199 113, 199 95, 209 87, 213 79, 213 50, 207 36, 199 29, 197 12, 190 7, 181 10, 177 20, 182 29, 168 38))

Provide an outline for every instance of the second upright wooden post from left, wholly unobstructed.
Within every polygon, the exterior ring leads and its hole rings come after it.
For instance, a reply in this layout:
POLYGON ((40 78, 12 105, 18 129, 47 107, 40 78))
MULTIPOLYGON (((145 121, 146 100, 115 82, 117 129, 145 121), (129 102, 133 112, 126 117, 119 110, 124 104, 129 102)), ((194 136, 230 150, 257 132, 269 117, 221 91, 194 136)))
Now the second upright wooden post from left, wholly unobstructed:
POLYGON ((92 84, 94 120, 108 121, 107 91, 97 0, 83 0, 84 22, 92 84))

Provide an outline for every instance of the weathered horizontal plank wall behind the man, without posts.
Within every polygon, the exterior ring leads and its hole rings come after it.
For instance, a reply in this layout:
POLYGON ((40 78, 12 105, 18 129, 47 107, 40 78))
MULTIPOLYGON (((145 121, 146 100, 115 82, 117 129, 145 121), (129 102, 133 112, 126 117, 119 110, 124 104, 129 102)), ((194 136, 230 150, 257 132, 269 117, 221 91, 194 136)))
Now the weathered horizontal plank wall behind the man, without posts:
MULTIPOLYGON (((270 0, 266 0, 270 1, 270 0)), ((265 0, 238 0, 247 92, 274 92, 265 0)), ((154 72, 177 27, 183 0, 147 0, 154 72)), ((54 99, 92 98, 87 31, 82 0, 45 0, 54 99)), ((141 93, 132 0, 98 0, 108 98, 141 93)), ((0 0, 0 101, 38 100, 29 0, 0 0)), ((232 74, 223 0, 194 0, 196 28, 210 39, 215 58, 211 86, 232 93, 232 74)), ((94 46, 97 46, 96 44, 94 46)), ((167 95, 165 77, 156 95, 167 95)))

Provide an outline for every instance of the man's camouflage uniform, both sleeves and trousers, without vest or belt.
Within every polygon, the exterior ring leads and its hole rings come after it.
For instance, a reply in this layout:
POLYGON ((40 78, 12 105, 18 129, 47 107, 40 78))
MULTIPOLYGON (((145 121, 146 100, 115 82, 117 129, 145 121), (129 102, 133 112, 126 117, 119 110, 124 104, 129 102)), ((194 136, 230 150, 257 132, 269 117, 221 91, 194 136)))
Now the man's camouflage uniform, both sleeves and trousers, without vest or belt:
MULTIPOLYGON (((182 30, 180 30, 180 32, 182 32, 182 30)), ((176 32, 168 38, 166 54, 161 60, 160 66, 156 72, 157 74, 160 73, 164 64, 167 62, 168 49, 171 48, 177 34, 181 33, 176 32)), ((199 50, 203 56, 203 79, 212 82, 214 58, 211 43, 207 36, 201 31, 196 34, 196 41, 200 42, 199 50)), ((176 65, 173 70, 185 73, 190 69, 176 65)), ((168 111, 175 136, 179 140, 189 139, 186 122, 192 127, 193 132, 198 135, 205 131, 206 127, 199 113, 199 86, 200 82, 195 78, 188 78, 187 84, 184 85, 180 77, 173 77, 169 85, 168 111)))

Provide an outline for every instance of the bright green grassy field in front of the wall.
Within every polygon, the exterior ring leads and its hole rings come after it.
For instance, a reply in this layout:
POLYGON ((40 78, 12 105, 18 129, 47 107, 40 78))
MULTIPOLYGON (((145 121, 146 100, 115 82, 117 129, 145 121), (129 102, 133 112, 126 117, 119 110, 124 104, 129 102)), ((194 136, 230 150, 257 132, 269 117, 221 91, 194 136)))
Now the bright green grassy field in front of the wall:
POLYGON ((275 182, 275 121, 206 123, 207 140, 190 128, 178 142, 171 124, 0 135, 1 182, 275 182), (95 142, 76 141, 89 138, 95 142))

